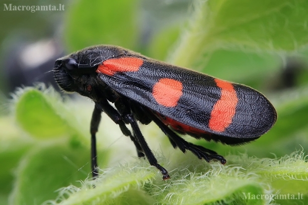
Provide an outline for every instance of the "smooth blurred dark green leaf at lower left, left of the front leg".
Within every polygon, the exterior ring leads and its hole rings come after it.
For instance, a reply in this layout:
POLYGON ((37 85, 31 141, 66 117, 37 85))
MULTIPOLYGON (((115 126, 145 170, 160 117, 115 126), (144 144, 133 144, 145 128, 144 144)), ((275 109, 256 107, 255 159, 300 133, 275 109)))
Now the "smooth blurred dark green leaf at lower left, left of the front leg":
POLYGON ((89 150, 67 144, 40 143, 22 158, 15 174, 11 205, 41 204, 56 198, 55 191, 61 187, 78 185, 79 180, 88 177, 89 150))

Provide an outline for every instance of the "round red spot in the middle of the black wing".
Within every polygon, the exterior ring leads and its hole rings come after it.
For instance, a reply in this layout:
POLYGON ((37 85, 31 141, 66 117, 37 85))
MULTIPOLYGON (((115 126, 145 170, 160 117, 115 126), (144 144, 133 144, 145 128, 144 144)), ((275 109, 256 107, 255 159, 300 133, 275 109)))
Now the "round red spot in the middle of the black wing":
POLYGON ((157 103, 163 106, 174 107, 183 95, 182 89, 183 85, 181 82, 162 78, 153 87, 153 97, 157 103))

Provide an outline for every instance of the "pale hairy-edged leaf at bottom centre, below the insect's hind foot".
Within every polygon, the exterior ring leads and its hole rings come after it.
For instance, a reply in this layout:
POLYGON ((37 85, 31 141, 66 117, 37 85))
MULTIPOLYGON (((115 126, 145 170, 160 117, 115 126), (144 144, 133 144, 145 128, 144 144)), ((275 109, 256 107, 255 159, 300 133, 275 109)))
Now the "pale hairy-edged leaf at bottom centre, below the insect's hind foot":
POLYGON ((238 170, 222 168, 217 164, 211 168, 213 169, 204 174, 181 171, 177 173, 179 176, 172 175, 172 180, 168 183, 154 184, 150 192, 159 204, 168 205, 206 205, 219 201, 224 201, 225 204, 236 202, 238 205, 265 204, 265 200, 242 199, 242 193, 264 194, 262 184, 254 177, 239 175, 236 173, 238 170), (162 193, 157 194, 159 191, 162 193))

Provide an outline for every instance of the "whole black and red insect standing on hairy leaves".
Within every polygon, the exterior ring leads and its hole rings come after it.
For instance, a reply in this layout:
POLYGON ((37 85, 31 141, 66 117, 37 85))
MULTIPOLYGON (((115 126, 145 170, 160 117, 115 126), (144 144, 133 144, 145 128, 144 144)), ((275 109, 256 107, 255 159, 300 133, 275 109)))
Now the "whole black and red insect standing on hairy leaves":
POLYGON ((189 143, 177 133, 237 145, 259 138, 277 118, 273 105, 252 88, 117 46, 93 46, 60 58, 54 76, 63 90, 95 103, 90 124, 93 177, 98 173, 95 135, 101 112, 120 126, 134 142, 138 156, 148 158, 163 179, 169 179, 168 172, 158 164, 138 121, 154 121, 182 152, 189 150, 200 159, 225 164, 215 151, 189 143))

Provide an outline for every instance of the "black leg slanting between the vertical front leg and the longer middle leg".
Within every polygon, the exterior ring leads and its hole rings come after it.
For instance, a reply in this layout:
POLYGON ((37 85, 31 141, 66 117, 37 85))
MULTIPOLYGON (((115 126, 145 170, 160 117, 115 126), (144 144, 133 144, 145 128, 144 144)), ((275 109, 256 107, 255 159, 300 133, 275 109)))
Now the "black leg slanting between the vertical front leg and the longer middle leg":
POLYGON ((119 125, 122 133, 125 136, 130 137, 130 139, 134 142, 135 147, 137 149, 138 157, 145 157, 145 154, 143 153, 140 144, 138 143, 136 138, 132 135, 131 131, 125 125, 119 112, 113 106, 111 106, 107 101, 102 101, 97 104, 99 107, 101 107, 102 110, 104 110, 104 112, 111 118, 111 120, 114 121, 114 123, 119 125))

